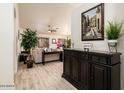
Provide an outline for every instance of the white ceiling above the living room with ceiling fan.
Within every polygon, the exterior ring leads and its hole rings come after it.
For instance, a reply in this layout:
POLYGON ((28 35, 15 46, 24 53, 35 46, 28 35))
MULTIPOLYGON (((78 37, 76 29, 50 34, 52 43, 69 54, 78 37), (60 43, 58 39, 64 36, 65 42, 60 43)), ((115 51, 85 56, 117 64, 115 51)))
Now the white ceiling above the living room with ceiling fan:
POLYGON ((21 28, 30 27, 39 33, 47 33, 48 25, 58 29, 58 34, 70 34, 70 18, 74 9, 81 4, 72 3, 30 3, 19 5, 21 28))

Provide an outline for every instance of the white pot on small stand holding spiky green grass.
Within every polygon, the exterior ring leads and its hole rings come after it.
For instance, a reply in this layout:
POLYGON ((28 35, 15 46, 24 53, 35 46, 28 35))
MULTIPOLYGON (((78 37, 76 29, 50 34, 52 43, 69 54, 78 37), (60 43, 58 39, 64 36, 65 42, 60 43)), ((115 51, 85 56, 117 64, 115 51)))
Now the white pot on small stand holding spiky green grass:
POLYGON ((117 40, 108 40, 108 46, 110 52, 117 52, 117 40))

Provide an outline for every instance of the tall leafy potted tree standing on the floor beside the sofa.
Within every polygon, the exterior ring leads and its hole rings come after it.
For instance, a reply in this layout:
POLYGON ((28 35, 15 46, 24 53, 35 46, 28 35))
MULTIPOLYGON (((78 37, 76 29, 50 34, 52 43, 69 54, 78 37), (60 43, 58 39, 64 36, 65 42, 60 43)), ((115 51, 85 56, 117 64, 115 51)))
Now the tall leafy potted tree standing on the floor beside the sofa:
POLYGON ((36 31, 27 28, 23 33, 21 33, 21 36, 21 47, 23 47, 23 49, 28 52, 27 67, 30 68, 33 67, 33 56, 31 54, 31 50, 38 44, 37 33, 36 31))

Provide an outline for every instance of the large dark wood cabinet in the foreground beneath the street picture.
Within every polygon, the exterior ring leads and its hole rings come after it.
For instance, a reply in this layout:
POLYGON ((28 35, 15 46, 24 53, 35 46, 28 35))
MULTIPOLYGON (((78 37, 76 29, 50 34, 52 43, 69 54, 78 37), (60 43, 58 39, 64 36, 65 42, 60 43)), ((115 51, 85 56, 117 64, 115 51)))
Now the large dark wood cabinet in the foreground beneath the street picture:
POLYGON ((120 89, 120 55, 64 49, 63 77, 77 89, 120 89))

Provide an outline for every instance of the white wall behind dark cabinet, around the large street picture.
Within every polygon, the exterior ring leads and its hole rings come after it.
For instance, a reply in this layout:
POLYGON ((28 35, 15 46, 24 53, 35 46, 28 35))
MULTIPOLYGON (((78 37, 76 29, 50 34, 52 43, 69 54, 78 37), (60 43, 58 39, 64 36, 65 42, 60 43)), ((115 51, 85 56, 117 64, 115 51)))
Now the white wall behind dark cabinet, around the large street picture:
MULTIPOLYGON (((73 12, 71 17, 71 33, 72 33, 72 40, 74 42, 75 48, 82 48, 83 43, 89 42, 93 43, 94 50, 108 50, 107 41, 81 41, 81 13, 94 7, 95 3, 85 3, 82 4, 79 8, 73 12)), ((105 4, 105 26, 107 25, 107 21, 110 20, 118 20, 124 21, 124 4, 105 4)), ((122 30, 124 32, 124 30, 122 30)), ((106 37, 106 36, 105 36, 106 37)), ((124 36, 119 39, 118 43, 118 51, 122 53, 121 55, 121 88, 124 89, 124 36)))

